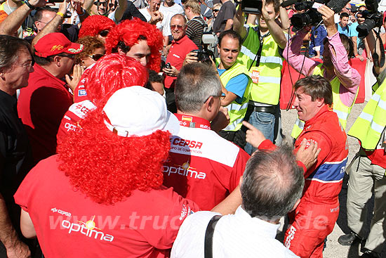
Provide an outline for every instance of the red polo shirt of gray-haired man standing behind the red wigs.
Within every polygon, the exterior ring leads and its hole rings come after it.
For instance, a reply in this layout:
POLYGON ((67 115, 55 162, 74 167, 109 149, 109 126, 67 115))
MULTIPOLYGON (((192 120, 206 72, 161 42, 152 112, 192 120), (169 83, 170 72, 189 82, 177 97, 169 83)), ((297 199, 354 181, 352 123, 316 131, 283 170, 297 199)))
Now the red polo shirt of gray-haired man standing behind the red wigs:
MULTIPOLYGON (((181 70, 185 56, 194 49, 197 49, 197 46, 187 37, 187 35, 182 37, 179 41, 173 40, 171 42, 171 50, 166 58, 166 63, 171 63, 177 70, 181 70)), ((165 87, 168 89, 173 88, 175 79, 177 79, 177 77, 165 75, 165 87)))

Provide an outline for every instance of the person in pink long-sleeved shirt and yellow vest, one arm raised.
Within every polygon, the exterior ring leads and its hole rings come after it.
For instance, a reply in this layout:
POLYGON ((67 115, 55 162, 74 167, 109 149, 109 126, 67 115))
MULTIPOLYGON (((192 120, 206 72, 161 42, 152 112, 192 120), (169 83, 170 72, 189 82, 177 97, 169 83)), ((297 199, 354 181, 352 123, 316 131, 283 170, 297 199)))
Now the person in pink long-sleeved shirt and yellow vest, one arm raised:
MULTIPOLYGON (((302 75, 321 75, 328 79, 334 93, 334 111, 338 114, 340 124, 345 128, 347 117, 357 96, 361 75, 349 64, 348 58, 352 56, 352 41, 345 35, 338 33, 334 22, 334 11, 328 6, 321 6, 317 11, 321 13, 327 30, 323 63, 300 55, 302 39, 310 30, 310 27, 300 30, 288 42, 286 49, 284 49, 284 58, 286 58, 288 64, 302 75)), ((293 138, 298 137, 303 125, 304 122, 297 120, 291 134, 293 138)))

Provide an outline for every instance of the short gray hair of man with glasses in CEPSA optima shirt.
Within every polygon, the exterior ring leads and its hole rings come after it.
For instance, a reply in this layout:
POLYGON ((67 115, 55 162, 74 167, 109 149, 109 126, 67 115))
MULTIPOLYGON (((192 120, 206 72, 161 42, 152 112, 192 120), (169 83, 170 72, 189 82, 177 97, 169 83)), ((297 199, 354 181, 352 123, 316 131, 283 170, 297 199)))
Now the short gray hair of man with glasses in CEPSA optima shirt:
POLYGON ((220 96, 217 72, 204 63, 184 65, 175 82, 175 103, 182 112, 198 112, 209 96, 220 96))

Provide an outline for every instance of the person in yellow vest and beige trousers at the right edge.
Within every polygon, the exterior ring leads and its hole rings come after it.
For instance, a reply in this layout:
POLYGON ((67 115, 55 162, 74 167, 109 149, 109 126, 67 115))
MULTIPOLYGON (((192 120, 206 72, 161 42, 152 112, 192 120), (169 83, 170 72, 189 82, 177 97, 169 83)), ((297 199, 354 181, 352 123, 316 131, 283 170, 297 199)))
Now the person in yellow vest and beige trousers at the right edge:
MULTIPOLYGON (((358 22, 364 22, 361 15, 358 16, 358 22)), ((384 58, 381 56, 384 50, 379 38, 375 37, 374 30, 368 34, 366 41, 373 55, 373 72, 377 77, 377 84, 373 86, 370 101, 348 132, 350 136, 359 139, 361 148, 350 165, 347 188, 347 226, 351 232, 340 236, 338 242, 340 245, 352 245, 367 238, 364 244, 365 252, 361 257, 380 257, 382 247, 385 246, 386 65, 381 61, 384 58), (364 222, 368 213, 365 205, 371 198, 372 189, 375 195, 374 215, 367 235, 368 230, 364 222)))

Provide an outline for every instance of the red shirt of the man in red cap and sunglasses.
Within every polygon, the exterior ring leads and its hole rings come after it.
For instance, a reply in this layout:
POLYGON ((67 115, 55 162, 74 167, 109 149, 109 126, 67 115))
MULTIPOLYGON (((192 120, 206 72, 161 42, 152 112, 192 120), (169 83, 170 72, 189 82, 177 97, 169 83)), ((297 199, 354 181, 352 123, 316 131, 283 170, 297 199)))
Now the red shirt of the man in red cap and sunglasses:
POLYGON ((38 64, 20 90, 18 113, 32 146, 34 163, 55 154, 60 120, 72 104, 72 94, 62 80, 38 64))

